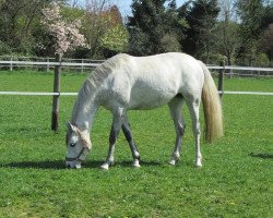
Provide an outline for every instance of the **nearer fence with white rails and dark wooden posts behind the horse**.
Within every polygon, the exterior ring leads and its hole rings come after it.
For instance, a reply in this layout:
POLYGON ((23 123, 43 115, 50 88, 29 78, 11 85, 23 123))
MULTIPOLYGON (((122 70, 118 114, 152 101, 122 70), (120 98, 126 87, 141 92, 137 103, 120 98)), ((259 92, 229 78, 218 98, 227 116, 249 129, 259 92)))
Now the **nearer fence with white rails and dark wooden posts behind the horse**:
MULTIPOLYGON (((1 58, 1 57, 0 57, 1 58)), ((60 60, 60 59, 55 59, 60 60)), ((73 59, 80 60, 80 59, 73 59)), ((60 90, 60 74, 61 69, 63 68, 76 68, 81 69, 92 69, 102 64, 103 61, 93 61, 93 62, 63 62, 62 61, 15 61, 15 60, 2 60, 0 61, 1 66, 10 66, 10 71, 13 71, 16 66, 46 66, 47 70, 55 68, 55 82, 54 82, 54 92, 52 93, 36 93, 36 92, 7 92, 0 90, 0 95, 28 95, 28 96, 52 96, 52 121, 51 129, 58 131, 58 118, 59 118, 59 97, 60 96, 75 96, 78 93, 61 93, 60 90)), ((224 75, 234 76, 236 75, 234 71, 245 71, 245 72, 258 72, 259 76, 273 76, 273 68, 248 68, 248 66, 225 66, 225 65, 207 65, 207 68, 218 74, 218 93, 223 97, 224 94, 234 94, 234 95, 268 95, 273 96, 273 93, 262 93, 262 92, 229 92, 224 90, 224 75)), ((0 72, 1 73, 1 72, 0 72)), ((248 73, 244 74, 248 76, 253 76, 253 74, 248 73)))

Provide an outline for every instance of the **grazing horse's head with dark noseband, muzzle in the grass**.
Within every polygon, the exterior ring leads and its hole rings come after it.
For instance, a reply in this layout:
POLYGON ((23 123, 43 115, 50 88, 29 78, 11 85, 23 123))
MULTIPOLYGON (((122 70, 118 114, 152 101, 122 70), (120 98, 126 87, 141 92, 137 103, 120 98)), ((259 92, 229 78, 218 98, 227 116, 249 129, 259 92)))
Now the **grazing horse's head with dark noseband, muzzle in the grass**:
POLYGON ((81 168, 82 161, 87 157, 92 144, 90 133, 81 131, 78 126, 68 122, 67 130, 67 157, 66 166, 68 168, 81 168))

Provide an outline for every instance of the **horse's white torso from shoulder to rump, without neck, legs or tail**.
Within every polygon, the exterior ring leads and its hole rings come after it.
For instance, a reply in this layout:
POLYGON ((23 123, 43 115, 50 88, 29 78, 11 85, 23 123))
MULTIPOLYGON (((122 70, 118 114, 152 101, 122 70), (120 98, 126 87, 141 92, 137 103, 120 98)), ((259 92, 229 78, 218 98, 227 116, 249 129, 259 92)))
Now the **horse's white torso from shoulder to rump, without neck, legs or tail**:
POLYGON ((105 107, 110 108, 117 101, 127 109, 153 109, 166 105, 177 94, 197 89, 191 87, 198 85, 200 76, 194 70, 195 63, 194 59, 181 53, 132 57, 109 76, 109 99, 105 100, 108 104, 105 107))

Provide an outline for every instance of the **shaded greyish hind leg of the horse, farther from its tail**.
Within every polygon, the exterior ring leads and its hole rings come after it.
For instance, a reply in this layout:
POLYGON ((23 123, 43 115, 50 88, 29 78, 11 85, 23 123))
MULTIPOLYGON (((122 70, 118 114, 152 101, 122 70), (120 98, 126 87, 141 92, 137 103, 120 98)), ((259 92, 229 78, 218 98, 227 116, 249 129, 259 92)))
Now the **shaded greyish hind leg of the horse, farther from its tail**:
POLYGON ((176 144, 169 160, 170 165, 176 165, 176 161, 180 158, 180 153, 182 147, 182 136, 186 128, 182 120, 182 111, 181 111, 182 104, 183 104, 182 97, 176 97, 168 104, 169 111, 176 129, 176 144))

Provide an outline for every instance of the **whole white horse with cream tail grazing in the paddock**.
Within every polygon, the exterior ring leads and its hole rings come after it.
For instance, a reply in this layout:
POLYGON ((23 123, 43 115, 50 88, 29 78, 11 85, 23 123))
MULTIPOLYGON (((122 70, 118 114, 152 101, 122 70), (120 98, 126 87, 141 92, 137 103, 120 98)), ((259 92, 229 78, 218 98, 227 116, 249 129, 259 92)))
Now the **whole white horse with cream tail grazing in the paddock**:
POLYGON ((117 55, 87 77, 74 104, 67 132, 66 165, 81 168, 92 148, 90 132, 99 106, 112 113, 109 150, 102 166, 114 164, 115 143, 122 129, 130 145, 133 166, 140 167, 140 154, 133 142, 127 118, 128 110, 158 108, 168 105, 176 129, 176 143, 170 165, 180 157, 185 122, 181 114, 183 102, 188 105, 195 138, 195 165, 202 166, 200 150, 199 107, 203 102, 205 140, 223 135, 222 107, 214 81, 206 66, 194 58, 178 52, 150 57, 117 55))

